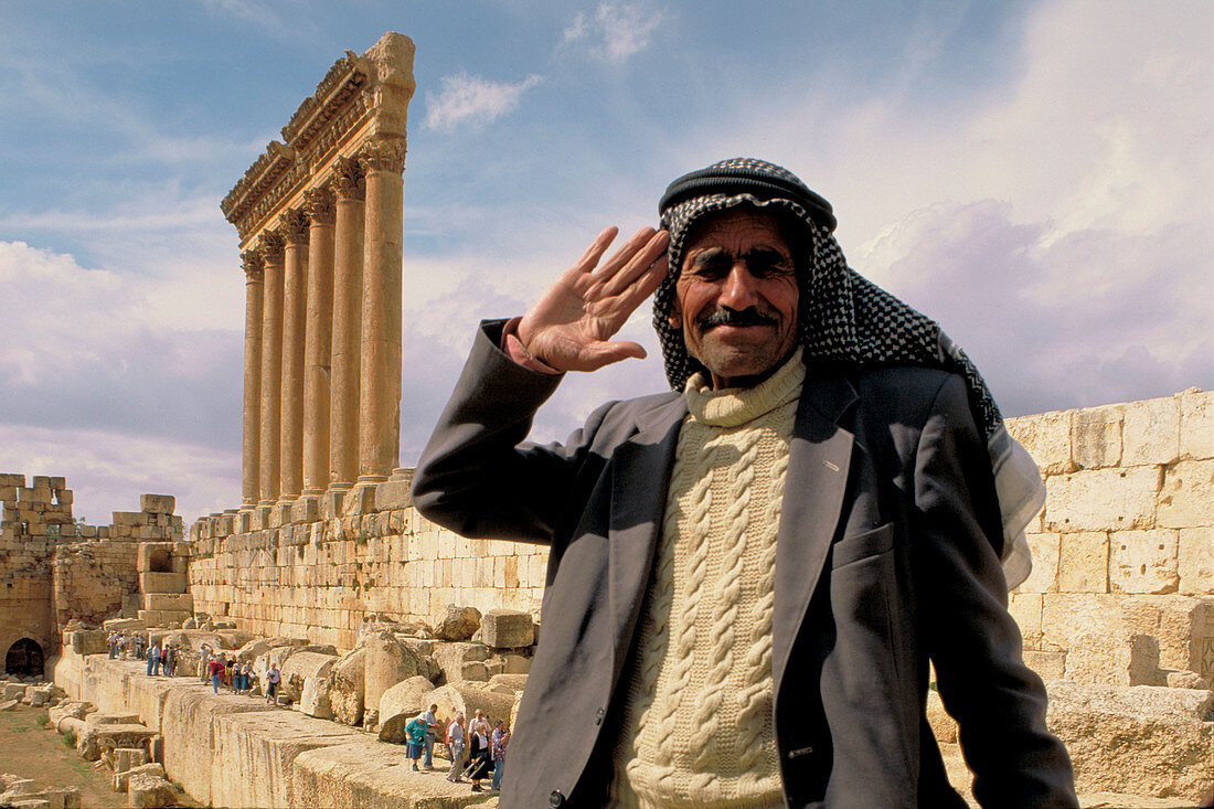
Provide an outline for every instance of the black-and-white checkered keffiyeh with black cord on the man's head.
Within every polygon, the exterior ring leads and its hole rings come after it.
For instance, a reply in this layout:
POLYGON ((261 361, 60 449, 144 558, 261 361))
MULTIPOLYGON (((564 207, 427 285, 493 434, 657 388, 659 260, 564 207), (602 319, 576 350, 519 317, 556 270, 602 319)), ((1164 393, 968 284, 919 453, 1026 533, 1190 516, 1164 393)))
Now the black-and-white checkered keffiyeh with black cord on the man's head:
POLYGON ((687 233, 705 214, 738 205, 782 214, 804 225, 809 236, 805 243, 812 255, 796 256, 801 293, 798 318, 806 363, 921 364, 965 379, 974 420, 991 451, 1004 515, 1002 551, 1008 583, 1019 584, 1029 570, 1023 527, 1044 503, 1036 464, 1008 434, 989 389, 965 352, 935 321, 847 266, 833 234, 830 203, 787 169, 765 160, 733 158, 686 174, 666 188, 658 213, 662 227, 670 233, 670 273, 653 296, 653 326, 670 386, 681 391, 688 377, 702 370, 687 355, 682 330, 670 322, 687 233))

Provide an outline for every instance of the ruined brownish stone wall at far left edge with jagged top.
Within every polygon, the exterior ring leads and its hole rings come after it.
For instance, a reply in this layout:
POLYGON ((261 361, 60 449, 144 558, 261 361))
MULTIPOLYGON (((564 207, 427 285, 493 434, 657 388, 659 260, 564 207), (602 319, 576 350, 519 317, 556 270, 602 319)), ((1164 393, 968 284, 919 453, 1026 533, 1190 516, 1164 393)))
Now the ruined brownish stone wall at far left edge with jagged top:
POLYGON ((72 490, 63 477, 0 474, 0 655, 18 640, 45 655, 59 647, 64 627, 102 620, 140 606, 138 545, 181 539, 172 498, 144 494, 140 511, 114 511, 108 526, 84 525, 72 515, 72 490))

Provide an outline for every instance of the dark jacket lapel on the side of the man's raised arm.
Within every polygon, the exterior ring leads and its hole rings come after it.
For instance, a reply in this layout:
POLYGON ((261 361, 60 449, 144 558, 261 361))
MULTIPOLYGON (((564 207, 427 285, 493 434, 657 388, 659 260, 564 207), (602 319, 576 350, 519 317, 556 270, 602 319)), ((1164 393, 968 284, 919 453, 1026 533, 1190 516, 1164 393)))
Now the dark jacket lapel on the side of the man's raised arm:
POLYGON ((637 432, 612 454, 607 593, 617 672, 624 663, 631 628, 645 600, 679 428, 686 414, 687 402, 682 396, 642 413, 637 432))

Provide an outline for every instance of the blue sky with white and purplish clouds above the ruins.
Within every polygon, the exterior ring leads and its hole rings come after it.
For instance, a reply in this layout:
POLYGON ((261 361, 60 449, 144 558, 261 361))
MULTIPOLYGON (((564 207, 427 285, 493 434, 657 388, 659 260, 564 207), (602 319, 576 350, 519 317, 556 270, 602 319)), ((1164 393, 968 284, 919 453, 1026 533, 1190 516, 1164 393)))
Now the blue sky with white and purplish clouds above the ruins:
MULTIPOLYGON (((240 503, 244 275, 220 200, 346 50, 416 45, 401 460, 476 323, 737 155, 834 205, 1008 415, 1214 387, 1214 4, 0 0, 0 471, 108 524, 240 503)), ((571 374, 533 436, 665 387, 571 374)))

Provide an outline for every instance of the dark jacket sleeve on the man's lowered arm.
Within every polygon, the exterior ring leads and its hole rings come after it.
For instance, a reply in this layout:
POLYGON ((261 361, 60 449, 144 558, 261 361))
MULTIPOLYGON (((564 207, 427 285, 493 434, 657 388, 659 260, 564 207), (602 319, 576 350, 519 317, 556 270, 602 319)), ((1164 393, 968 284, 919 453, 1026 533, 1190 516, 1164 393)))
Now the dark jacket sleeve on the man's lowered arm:
POLYGON ((961 379, 941 386, 915 456, 915 578, 940 696, 983 807, 1078 807, 1071 760, 1045 726, 999 564, 989 458, 961 379))

